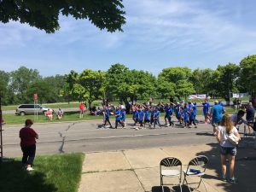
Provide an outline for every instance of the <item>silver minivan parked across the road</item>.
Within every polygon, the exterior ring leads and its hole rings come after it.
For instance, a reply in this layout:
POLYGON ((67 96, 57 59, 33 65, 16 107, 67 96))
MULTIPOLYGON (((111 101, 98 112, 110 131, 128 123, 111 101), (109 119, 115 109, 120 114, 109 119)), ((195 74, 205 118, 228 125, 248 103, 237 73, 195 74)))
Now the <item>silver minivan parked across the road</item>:
MULTIPOLYGON (((18 106, 18 108, 16 108, 16 113, 18 115, 25 115, 25 114, 33 114, 35 112, 38 111, 38 114, 44 114, 47 112, 48 109, 51 108, 45 108, 43 105, 39 105, 39 104, 21 104, 20 106, 18 106)), ((54 110, 51 109, 54 113, 54 110)))

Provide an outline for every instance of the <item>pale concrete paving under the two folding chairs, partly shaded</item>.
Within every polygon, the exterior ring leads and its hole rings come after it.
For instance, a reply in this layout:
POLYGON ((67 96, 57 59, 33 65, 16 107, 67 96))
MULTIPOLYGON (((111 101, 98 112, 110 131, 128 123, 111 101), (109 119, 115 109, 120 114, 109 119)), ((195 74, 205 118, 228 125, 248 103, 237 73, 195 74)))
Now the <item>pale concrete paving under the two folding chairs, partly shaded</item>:
MULTIPOLYGON (((219 179, 220 156, 218 145, 213 143, 199 146, 143 148, 85 154, 79 192, 161 191, 160 160, 168 156, 177 157, 182 160, 183 168, 185 168, 189 160, 200 154, 207 155, 209 158, 205 175, 208 191, 256 191, 255 152, 253 148, 238 148, 236 156, 238 183, 236 184, 222 182, 219 179)), ((174 184, 174 187, 167 185, 165 191, 170 191, 170 189, 179 191, 177 178, 168 178, 165 181, 174 184)), ((203 184, 198 190, 206 191, 203 184)), ((183 186, 183 191, 189 190, 183 186)))

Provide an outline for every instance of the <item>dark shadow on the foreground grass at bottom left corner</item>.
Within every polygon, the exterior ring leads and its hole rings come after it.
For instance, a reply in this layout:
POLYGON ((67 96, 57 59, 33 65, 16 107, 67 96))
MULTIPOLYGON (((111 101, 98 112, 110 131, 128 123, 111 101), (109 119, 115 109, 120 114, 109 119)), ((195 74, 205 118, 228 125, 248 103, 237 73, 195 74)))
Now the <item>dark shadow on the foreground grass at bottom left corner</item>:
POLYGON ((47 183, 44 172, 26 172, 21 162, 14 159, 0 162, 1 192, 55 192, 54 184, 47 183))

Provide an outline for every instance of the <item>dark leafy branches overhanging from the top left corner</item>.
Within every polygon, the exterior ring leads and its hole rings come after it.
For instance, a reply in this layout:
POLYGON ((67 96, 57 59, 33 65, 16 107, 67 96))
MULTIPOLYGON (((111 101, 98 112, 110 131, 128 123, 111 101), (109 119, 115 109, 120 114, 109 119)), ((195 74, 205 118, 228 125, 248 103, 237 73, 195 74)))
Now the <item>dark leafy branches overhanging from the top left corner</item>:
POLYGON ((122 0, 2 0, 0 21, 18 20, 51 33, 60 29, 60 15, 71 15, 76 20, 88 19, 101 30, 115 32, 122 31, 125 24, 123 8, 122 0))

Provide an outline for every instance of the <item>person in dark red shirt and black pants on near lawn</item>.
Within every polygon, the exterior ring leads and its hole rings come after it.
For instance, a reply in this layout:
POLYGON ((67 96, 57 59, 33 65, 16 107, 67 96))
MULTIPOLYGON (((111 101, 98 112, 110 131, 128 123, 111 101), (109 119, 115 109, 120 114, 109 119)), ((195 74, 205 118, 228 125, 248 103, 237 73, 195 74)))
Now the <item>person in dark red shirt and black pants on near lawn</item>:
POLYGON ((36 154, 36 139, 38 139, 38 133, 31 128, 32 125, 32 120, 26 119, 25 127, 20 129, 20 148, 23 153, 22 164, 28 172, 33 170, 32 166, 36 154))

